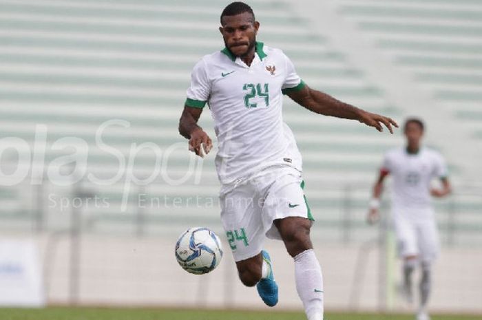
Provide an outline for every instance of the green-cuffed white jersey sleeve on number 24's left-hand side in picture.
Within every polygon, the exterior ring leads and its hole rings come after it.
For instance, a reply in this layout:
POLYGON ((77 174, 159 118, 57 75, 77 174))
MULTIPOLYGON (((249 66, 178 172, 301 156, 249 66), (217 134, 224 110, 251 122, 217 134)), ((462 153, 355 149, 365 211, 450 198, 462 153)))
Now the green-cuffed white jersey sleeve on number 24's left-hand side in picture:
POLYGON ((211 85, 207 76, 206 62, 201 60, 196 63, 191 73, 191 85, 186 92, 185 105, 202 109, 205 107, 210 94, 211 85))

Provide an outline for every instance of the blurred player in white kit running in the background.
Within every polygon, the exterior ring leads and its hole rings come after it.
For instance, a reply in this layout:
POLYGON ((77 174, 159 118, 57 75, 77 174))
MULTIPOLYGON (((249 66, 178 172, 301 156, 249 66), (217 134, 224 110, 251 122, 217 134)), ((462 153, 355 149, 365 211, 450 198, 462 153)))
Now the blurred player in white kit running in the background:
POLYGON ((386 153, 379 178, 373 188, 368 221, 378 219, 379 198, 383 182, 392 176, 392 217, 399 256, 403 259, 404 293, 412 301, 412 273, 421 268, 420 306, 417 320, 428 320, 430 265, 439 251, 439 237, 434 220, 431 196, 440 198, 450 193, 446 163, 441 155, 421 146, 423 122, 409 118, 404 125, 407 145, 386 153), (441 180, 441 189, 432 188, 432 180, 441 180))

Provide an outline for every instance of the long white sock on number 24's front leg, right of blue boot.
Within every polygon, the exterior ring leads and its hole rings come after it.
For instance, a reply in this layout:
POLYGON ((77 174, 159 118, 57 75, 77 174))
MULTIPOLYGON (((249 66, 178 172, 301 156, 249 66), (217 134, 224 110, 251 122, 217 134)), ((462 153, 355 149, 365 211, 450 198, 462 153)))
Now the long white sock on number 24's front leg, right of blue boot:
POLYGON ((295 256, 296 290, 308 320, 323 320, 323 276, 315 251, 295 256))

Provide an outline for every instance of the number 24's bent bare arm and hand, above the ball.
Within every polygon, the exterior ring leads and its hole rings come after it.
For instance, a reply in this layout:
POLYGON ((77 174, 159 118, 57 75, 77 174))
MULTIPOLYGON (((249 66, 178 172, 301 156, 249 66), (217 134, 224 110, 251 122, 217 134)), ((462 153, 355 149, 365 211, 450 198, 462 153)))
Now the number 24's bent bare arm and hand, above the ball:
POLYGON ((189 139, 189 150, 200 157, 209 153, 213 147, 211 138, 209 138, 207 133, 198 125, 201 114, 202 109, 185 105, 179 119, 179 134, 189 139))

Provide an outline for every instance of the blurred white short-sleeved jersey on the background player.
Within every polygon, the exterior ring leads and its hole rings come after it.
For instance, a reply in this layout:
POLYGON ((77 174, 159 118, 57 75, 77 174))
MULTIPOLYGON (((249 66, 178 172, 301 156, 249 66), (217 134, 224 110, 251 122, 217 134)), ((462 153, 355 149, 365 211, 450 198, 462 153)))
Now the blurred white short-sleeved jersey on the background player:
POLYGON ((392 206, 395 214, 431 210, 430 185, 434 178, 444 178, 448 171, 442 156, 423 147, 416 154, 405 148, 386 153, 382 170, 392 175, 392 206))

